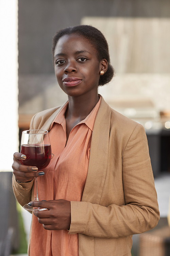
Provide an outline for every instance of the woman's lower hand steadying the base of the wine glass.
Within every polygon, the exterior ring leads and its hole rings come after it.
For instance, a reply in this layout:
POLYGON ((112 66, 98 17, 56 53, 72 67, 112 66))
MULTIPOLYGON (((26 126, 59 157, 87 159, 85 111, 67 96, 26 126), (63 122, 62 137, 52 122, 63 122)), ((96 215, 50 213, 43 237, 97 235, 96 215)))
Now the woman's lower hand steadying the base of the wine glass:
POLYGON ((33 201, 32 207, 47 208, 44 211, 34 211, 38 222, 48 230, 69 229, 71 223, 70 201, 59 199, 50 201, 33 201))

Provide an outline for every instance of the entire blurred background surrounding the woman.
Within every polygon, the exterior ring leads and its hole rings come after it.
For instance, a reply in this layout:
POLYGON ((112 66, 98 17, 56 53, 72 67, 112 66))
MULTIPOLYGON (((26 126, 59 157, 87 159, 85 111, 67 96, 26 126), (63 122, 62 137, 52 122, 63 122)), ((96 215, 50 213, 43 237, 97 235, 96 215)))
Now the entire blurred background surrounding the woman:
MULTIPOLYGON (((133 236, 132 254, 170 255, 169 0, 0 0, 0 129, 1 134, 6 131, 0 149, 0 185, 6 194, 0 193, 0 199, 4 201, 6 196, 13 201, 11 165, 22 130, 29 129, 35 113, 67 100, 54 75, 52 37, 61 28, 80 24, 100 29, 109 44, 115 77, 100 87, 99 93, 112 108, 142 124, 147 133, 161 218, 155 229, 133 236)), ((7 231, 0 231, 0 256, 7 255, 1 253, 6 246, 4 234, 13 241, 15 232, 25 232, 22 243, 27 247, 31 222, 31 214, 18 205, 17 211, 11 203, 6 209, 7 224, 0 215, 7 227, 7 231), (10 237, 9 219, 15 213, 19 214, 20 228, 16 231, 19 224, 15 221, 10 237)), ((25 248, 18 249, 19 238, 13 244, 18 244, 11 246, 14 253, 26 252, 25 248)))

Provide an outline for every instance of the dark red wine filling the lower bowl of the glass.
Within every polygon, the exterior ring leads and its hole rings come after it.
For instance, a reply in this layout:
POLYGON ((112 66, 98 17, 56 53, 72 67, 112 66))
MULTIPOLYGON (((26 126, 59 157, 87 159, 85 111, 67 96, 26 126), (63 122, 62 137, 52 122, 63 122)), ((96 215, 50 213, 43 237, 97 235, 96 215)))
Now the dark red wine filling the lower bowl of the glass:
POLYGON ((21 145, 21 153, 27 156, 25 160, 22 160, 23 165, 36 166, 38 171, 40 171, 50 163, 51 145, 21 145))

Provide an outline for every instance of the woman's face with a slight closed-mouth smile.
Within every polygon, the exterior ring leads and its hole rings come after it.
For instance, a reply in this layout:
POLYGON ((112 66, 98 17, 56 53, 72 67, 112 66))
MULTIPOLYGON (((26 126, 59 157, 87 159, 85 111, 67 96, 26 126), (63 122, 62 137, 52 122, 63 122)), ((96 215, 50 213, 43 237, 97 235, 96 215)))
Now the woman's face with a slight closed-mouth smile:
POLYGON ((54 51, 55 76, 69 96, 97 93, 102 61, 94 47, 78 34, 61 37, 54 51))

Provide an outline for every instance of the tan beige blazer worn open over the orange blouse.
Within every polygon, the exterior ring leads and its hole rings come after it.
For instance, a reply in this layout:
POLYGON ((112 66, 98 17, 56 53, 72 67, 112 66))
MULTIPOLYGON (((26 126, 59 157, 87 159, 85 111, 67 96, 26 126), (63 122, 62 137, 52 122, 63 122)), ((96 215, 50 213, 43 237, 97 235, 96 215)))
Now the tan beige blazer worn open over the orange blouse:
MULTIPOLYGON (((30 128, 48 130, 60 109, 37 113, 30 128)), ((13 179, 13 187, 21 205, 31 200, 32 182, 13 179)), ((69 234, 79 233, 79 256, 130 256, 132 235, 154 228, 158 219, 145 130, 101 97, 82 201, 71 202, 69 234)))

